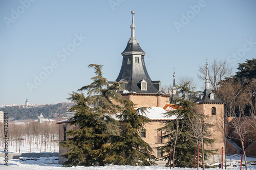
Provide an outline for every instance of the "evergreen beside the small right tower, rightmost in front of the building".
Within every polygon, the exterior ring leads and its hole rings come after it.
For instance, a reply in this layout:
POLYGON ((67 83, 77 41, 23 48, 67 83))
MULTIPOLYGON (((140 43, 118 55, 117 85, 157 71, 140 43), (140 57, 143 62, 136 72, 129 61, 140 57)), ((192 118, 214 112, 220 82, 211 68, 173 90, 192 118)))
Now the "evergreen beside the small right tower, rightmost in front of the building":
MULTIPOLYGON (((186 98, 186 94, 195 95, 197 92, 193 92, 189 88, 189 82, 182 84, 178 88, 177 95, 180 96, 175 100, 177 109, 166 113, 166 118, 176 115, 175 120, 168 120, 164 126, 159 130, 163 131, 163 138, 168 141, 163 147, 158 147, 163 153, 165 153, 162 160, 167 160, 166 166, 170 164, 170 147, 173 149, 173 163, 178 167, 193 167, 194 161, 194 148, 197 148, 196 139, 189 136, 192 133, 191 126, 189 126, 189 117, 193 117, 194 106, 193 102, 190 102, 186 98), (182 127, 182 129, 181 129, 182 127), (180 130, 180 134, 175 138, 175 134, 180 130)), ((211 143, 212 140, 206 140, 205 143, 211 143)), ((207 159, 211 151, 204 150, 204 157, 207 159)))

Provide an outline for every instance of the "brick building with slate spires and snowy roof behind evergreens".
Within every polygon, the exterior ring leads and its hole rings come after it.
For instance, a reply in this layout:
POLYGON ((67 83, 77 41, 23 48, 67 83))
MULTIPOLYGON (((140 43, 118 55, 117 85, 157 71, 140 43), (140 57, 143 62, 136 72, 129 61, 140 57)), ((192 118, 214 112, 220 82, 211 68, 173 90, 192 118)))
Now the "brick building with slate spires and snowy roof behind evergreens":
MULTIPOLYGON (((147 73, 144 63, 145 52, 141 49, 139 42, 135 37, 135 25, 134 25, 134 11, 132 11, 132 25, 131 25, 131 38, 127 42, 125 50, 121 53, 122 65, 119 75, 116 81, 109 82, 111 85, 114 82, 121 82, 120 91, 122 99, 128 99, 133 101, 137 107, 151 107, 147 116, 151 119, 151 122, 146 125, 145 131, 141 131, 141 137, 144 141, 151 145, 152 148, 159 147, 164 144, 162 138, 162 132, 157 129, 163 126, 166 121, 166 117, 162 113, 168 110, 175 110, 177 106, 174 105, 173 99, 176 96, 176 85, 174 75, 174 89, 173 94, 167 94, 161 90, 161 81, 152 81, 147 73)), ((208 67, 207 67, 208 68, 208 67)), ((206 88, 200 98, 196 101, 197 106, 195 110, 200 113, 211 116, 212 123, 217 125, 217 119, 223 117, 223 102, 217 98, 209 89, 208 69, 206 72, 206 88), (214 110, 212 110, 214 109, 214 110)), ((168 119, 175 119, 176 117, 169 117, 168 119)), ((58 122, 59 124, 59 140, 65 140, 66 136, 63 135, 63 131, 73 129, 67 121, 58 122)), ((213 145, 210 145, 211 149, 218 149, 218 156, 212 158, 212 161, 220 160, 221 147, 224 147, 223 135, 221 132, 221 126, 218 124, 218 130, 215 134, 217 139, 213 145)), ((59 148, 59 156, 65 153, 66 150, 59 148)), ((162 157, 160 150, 154 149, 156 157, 162 157)), ((59 157, 59 163, 63 163, 65 160, 59 157)), ((159 163, 159 162, 158 162, 159 163)), ((161 162, 160 162, 161 163, 161 162)))

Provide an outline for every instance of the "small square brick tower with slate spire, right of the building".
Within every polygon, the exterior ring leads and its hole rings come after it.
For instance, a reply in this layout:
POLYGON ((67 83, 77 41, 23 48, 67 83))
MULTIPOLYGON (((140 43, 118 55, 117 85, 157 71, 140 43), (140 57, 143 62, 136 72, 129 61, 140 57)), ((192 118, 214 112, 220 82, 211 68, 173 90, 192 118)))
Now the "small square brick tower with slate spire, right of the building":
POLYGON ((212 139, 216 141, 206 146, 208 150, 218 150, 217 154, 212 156, 210 161, 221 161, 221 150, 224 148, 223 127, 224 127, 224 102, 210 90, 208 63, 206 59, 205 89, 195 101, 195 111, 199 114, 205 114, 209 117, 210 123, 214 125, 211 131, 215 131, 212 139))

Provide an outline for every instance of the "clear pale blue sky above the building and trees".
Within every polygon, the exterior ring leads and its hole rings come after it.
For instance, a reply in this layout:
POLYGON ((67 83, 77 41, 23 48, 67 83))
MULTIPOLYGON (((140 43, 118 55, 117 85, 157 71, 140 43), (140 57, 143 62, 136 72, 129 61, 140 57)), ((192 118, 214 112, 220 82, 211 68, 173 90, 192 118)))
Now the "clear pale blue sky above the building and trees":
POLYGON ((102 64, 115 81, 135 35, 152 80, 197 78, 214 59, 233 67, 255 58, 256 1, 0 1, 0 105, 67 102, 102 64))

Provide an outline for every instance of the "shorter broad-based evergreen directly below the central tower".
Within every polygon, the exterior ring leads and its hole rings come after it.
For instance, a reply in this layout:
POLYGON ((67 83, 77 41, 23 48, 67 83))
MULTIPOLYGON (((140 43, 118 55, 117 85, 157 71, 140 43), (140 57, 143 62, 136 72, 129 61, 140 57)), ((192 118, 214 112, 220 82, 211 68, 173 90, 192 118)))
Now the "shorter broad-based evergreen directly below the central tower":
POLYGON ((121 136, 116 136, 111 142, 108 161, 116 165, 155 165, 156 157, 153 150, 140 136, 140 130, 149 122, 145 116, 146 107, 134 109, 132 101, 125 100, 125 110, 117 117, 122 121, 124 129, 121 136))

